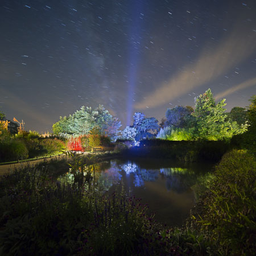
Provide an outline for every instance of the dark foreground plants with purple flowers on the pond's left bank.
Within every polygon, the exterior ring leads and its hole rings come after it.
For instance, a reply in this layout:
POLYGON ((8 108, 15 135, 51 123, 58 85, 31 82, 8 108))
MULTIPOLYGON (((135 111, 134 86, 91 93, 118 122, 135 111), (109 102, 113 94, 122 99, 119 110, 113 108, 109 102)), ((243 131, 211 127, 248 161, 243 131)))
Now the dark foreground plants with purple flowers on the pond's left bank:
POLYGON ((180 255, 176 243, 162 240, 140 200, 102 194, 92 158, 75 157, 69 166, 73 184, 55 179, 67 170, 63 160, 1 179, 1 255, 180 255))

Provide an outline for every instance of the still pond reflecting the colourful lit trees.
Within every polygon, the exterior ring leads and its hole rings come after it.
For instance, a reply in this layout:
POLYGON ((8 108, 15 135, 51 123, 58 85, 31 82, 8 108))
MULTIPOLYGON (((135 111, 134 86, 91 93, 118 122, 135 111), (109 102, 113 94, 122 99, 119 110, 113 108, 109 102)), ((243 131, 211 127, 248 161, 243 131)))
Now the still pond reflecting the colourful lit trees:
MULTIPOLYGON (((112 193, 125 189, 148 204, 148 213, 168 226, 181 226, 196 203, 192 187, 213 170, 213 164, 184 166, 171 160, 109 160, 96 165, 98 188, 112 193), (122 186, 121 186, 122 184, 122 186)), ((59 179, 72 180, 66 174, 59 179)))

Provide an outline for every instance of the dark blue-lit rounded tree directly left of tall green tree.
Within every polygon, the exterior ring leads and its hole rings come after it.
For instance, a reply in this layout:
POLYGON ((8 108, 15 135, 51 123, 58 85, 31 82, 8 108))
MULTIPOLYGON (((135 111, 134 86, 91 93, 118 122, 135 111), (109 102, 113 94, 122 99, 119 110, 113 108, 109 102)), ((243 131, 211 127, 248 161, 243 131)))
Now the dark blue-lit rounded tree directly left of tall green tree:
POLYGON ((167 109, 165 126, 190 127, 193 119, 192 112, 191 106, 175 106, 172 109, 167 109))

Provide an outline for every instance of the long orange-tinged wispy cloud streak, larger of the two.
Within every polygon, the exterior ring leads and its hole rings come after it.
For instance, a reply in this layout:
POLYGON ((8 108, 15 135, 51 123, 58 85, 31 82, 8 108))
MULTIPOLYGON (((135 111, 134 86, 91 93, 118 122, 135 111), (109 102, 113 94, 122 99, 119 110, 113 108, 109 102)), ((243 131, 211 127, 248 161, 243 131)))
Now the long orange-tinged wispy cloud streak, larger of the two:
POLYGON ((205 49, 195 64, 185 67, 184 71, 160 85, 154 93, 149 94, 134 107, 136 109, 154 108, 214 81, 255 51, 255 38, 256 33, 248 36, 237 29, 222 40, 215 49, 205 49))

